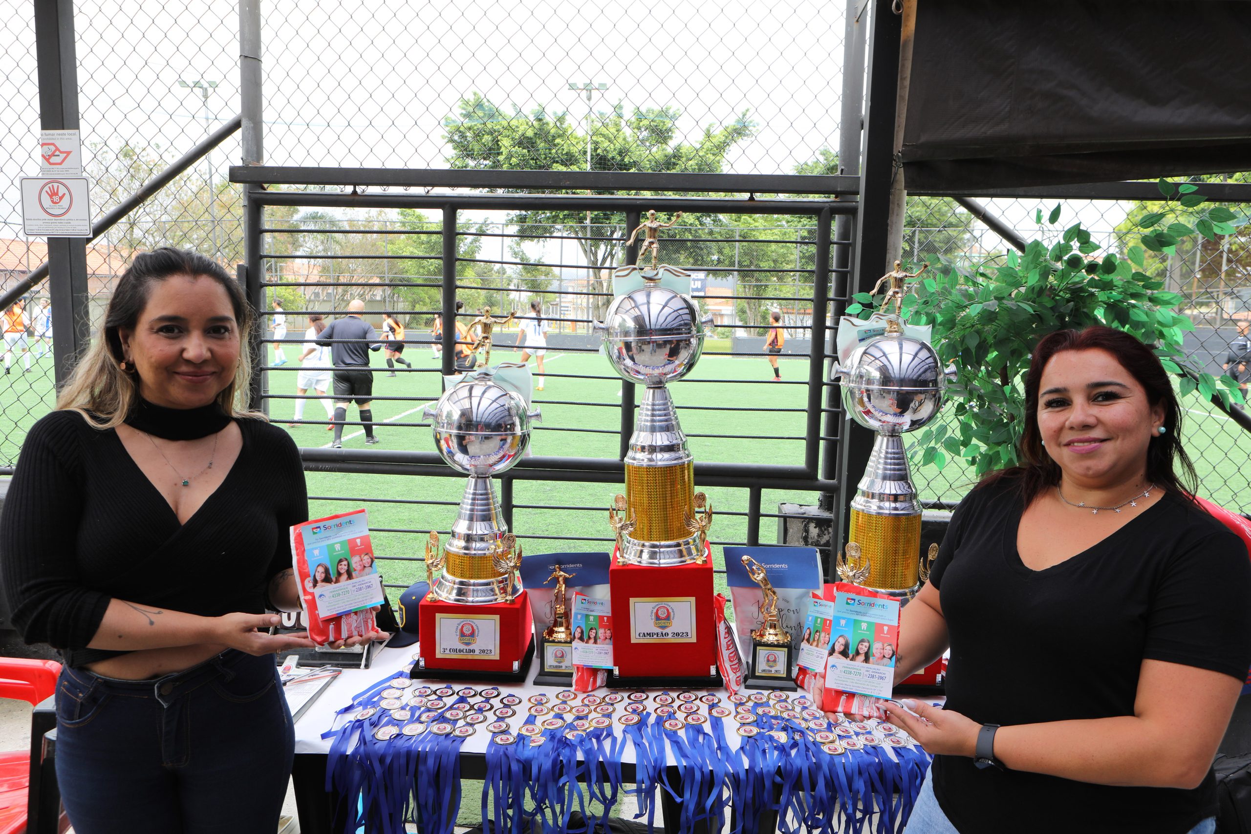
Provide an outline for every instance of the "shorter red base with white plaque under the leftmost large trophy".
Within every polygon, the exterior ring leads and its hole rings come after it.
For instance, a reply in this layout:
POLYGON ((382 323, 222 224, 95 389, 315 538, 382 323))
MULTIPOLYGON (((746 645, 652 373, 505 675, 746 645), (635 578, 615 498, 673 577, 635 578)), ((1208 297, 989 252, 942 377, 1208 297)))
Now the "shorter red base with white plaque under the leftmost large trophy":
POLYGON ((427 595, 418 608, 422 654, 413 678, 524 681, 534 656, 530 603, 465 605, 427 595))

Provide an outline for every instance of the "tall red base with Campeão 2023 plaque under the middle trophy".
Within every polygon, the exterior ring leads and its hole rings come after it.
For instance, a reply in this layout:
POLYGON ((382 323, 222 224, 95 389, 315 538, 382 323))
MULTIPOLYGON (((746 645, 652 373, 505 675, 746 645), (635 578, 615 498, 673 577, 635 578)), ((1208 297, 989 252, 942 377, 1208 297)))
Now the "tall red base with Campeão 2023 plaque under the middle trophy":
POLYGON ((631 565, 613 553, 609 686, 721 686, 712 548, 703 564, 631 565))

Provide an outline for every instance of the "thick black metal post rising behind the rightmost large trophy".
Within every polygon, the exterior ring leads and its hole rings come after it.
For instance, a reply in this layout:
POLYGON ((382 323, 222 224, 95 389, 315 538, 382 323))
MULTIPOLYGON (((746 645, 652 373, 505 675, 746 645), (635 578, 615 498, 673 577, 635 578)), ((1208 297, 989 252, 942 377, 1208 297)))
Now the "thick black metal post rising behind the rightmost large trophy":
MULTIPOLYGON (((902 18, 891 11, 889 0, 873 0, 868 30, 868 95, 864 111, 864 159, 861 168, 861 199, 856 215, 856 249, 848 295, 867 293, 887 271, 887 225, 891 214, 891 180, 894 174, 894 113, 899 88, 899 41, 902 18)), ((834 519, 836 538, 831 554, 847 540, 849 504, 873 449, 873 433, 846 414, 838 434, 838 478, 843 485, 834 519)))

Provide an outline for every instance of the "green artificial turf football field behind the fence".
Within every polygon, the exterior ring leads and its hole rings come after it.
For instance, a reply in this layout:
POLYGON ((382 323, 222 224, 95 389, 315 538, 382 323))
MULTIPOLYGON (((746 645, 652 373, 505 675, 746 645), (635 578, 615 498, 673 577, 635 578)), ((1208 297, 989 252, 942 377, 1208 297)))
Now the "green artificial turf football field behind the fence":
MULTIPOLYGON (((713 345, 723 348, 724 345, 713 345)), ((295 355, 289 350, 288 355, 295 355)), ((428 373, 409 373, 400 369, 395 378, 387 375, 380 354, 374 355, 378 396, 422 398, 420 401, 385 401, 374 404, 374 419, 379 424, 382 444, 372 449, 433 450, 434 443, 427 426, 404 425, 420 421, 419 409, 424 401, 438 396, 440 390, 438 361, 428 348, 413 345, 407 356, 415 369, 428 373)), ((519 356, 507 349, 497 349, 495 361, 514 360, 519 356)), ((533 365, 533 359, 530 360, 533 365)), ((271 394, 295 393, 294 363, 270 371, 271 394)), ((21 439, 29 425, 53 405, 51 358, 34 364, 33 373, 21 374, 20 359, 14 374, 0 376, 0 465, 13 465, 21 439)), ((563 455, 585 458, 615 458, 618 450, 620 381, 610 375, 607 360, 599 354, 574 354, 549 351, 545 389, 535 391, 535 403, 543 410, 543 420, 532 439, 537 455, 563 455), (585 374, 598 379, 573 379, 569 375, 585 374), (573 431, 570 429, 598 429, 603 433, 573 431)), ((728 358, 704 355, 688 380, 672 386, 673 398, 681 406, 741 406, 769 409, 766 411, 682 410, 683 429, 691 435, 691 448, 701 461, 737 461, 757 464, 798 465, 802 463, 804 431, 803 406, 807 393, 807 363, 803 359, 783 359, 783 383, 772 383, 772 371, 763 358, 728 358), (709 381, 699 381, 709 380, 709 381), (786 410, 792 409, 792 410, 786 410), (701 436, 709 434, 726 438, 701 436), (767 435, 756 439, 752 435, 767 435)), ((1202 491, 1218 504, 1235 509, 1247 509, 1242 496, 1248 494, 1247 460, 1251 454, 1251 436, 1237 429, 1228 418, 1213 414, 1197 398, 1183 403, 1186 448, 1195 460, 1201 478, 1202 491)), ((286 425, 294 401, 275 399, 270 413, 278 425, 286 425)), ((305 419, 322 420, 324 410, 317 401, 305 406, 305 419)), ((355 408, 349 420, 355 420, 355 408)), ((330 433, 323 425, 288 429, 301 446, 323 446, 330 441, 330 433)), ((364 436, 355 426, 344 433, 345 448, 365 448, 364 436)), ((943 471, 933 466, 919 468, 914 478, 923 498, 958 500, 967 491, 967 470, 957 463, 943 471)), ((334 473, 308 473, 309 495, 313 498, 314 515, 329 515, 358 506, 368 506, 370 525, 377 533, 379 555, 394 559, 387 563, 388 584, 407 585, 422 578, 424 569, 419 561, 424 549, 425 531, 447 530, 455 518, 455 503, 460 498, 463 478, 403 476, 403 475, 348 475, 334 473), (329 500, 329 499, 344 500, 329 500), (399 504, 395 501, 422 501, 399 504), (434 503, 427 503, 434 501, 434 503)), ((612 496, 620 490, 615 484, 577 484, 517 480, 514 503, 514 530, 523 536, 528 553, 585 551, 603 549, 609 538, 607 508, 612 496), (529 505, 529 506, 527 506, 529 505), (540 505, 544 509, 532 509, 540 505), (589 506, 593 509, 577 509, 589 506), (547 509, 554 508, 554 509, 547 509), (537 538, 529 538, 537 536, 537 538), (560 536, 568 536, 560 538, 560 536)), ((747 538, 747 490, 706 488, 716 511, 712 528, 714 543, 743 543, 747 538), (738 515, 734 515, 734 514, 738 515)), ((814 503, 816 495, 802 491, 764 490, 762 506, 766 513, 776 513, 781 501, 814 503)), ((764 518, 761 523, 763 543, 772 543, 777 521, 764 518)), ((719 548, 714 546, 719 561, 719 548)))

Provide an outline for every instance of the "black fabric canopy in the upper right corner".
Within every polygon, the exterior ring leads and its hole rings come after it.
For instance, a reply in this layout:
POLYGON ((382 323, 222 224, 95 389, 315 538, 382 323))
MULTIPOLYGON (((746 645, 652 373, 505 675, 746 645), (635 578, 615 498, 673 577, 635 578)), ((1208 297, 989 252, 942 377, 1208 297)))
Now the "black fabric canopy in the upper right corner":
POLYGON ((919 0, 909 191, 1251 170, 1251 3, 919 0))

